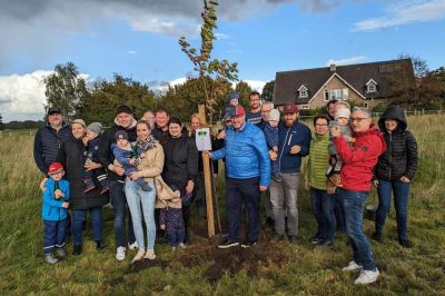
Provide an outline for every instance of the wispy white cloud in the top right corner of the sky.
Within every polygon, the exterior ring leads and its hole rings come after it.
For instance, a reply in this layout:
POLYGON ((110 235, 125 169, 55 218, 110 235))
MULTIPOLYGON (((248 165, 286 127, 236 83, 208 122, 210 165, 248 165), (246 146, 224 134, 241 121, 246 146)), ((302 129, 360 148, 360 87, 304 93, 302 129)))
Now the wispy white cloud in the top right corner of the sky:
POLYGON ((354 23, 353 31, 372 31, 411 22, 434 21, 445 18, 445 0, 402 1, 389 6, 384 17, 354 23))

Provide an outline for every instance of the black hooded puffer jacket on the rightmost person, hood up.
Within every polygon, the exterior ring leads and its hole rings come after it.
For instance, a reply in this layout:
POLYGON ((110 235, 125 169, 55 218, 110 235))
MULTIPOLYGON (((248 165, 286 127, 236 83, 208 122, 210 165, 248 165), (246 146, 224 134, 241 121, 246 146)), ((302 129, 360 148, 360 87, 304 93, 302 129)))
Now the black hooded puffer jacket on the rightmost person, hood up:
POLYGON ((378 120, 378 127, 384 132, 388 149, 378 158, 375 177, 384 180, 398 180, 402 177, 413 179, 417 169, 417 142, 414 136, 406 130, 404 111, 398 106, 388 107, 378 120), (388 134, 385 127, 386 119, 395 119, 397 128, 388 134))

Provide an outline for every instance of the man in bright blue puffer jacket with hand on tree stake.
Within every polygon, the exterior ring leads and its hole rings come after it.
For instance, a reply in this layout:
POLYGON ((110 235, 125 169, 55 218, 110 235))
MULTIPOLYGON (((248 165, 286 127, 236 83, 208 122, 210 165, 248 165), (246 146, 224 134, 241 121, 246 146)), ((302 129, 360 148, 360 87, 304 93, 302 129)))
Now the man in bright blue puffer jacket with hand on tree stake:
POLYGON ((233 129, 226 130, 226 146, 210 152, 212 159, 226 158, 226 210, 229 235, 218 247, 239 245, 241 201, 249 220, 247 239, 241 247, 253 247, 259 238, 259 191, 270 182, 270 160, 266 139, 259 128, 246 121, 241 106, 229 107, 233 129))

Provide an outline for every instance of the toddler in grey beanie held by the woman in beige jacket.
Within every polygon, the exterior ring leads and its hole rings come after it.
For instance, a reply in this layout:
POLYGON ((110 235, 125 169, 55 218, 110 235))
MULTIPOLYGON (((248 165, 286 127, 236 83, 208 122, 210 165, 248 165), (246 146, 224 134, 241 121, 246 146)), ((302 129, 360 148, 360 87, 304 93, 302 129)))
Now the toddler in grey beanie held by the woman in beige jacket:
MULTIPOLYGON (((126 176, 131 176, 135 171, 138 171, 136 168, 140 162, 141 149, 138 149, 136 146, 131 146, 128 141, 128 134, 125 130, 119 130, 115 135, 116 144, 111 144, 111 150, 115 155, 116 160, 125 169, 126 176)), ((144 191, 151 191, 148 182, 144 180, 144 178, 137 178, 135 180, 144 191)))

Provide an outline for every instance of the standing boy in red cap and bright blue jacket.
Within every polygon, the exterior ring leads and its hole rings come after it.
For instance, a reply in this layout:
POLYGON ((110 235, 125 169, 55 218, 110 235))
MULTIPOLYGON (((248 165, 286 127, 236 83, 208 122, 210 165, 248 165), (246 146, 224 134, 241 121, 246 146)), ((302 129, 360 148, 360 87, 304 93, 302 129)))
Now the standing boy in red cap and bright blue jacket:
POLYGON ((44 260, 52 265, 67 256, 63 247, 68 224, 69 182, 62 180, 65 171, 60 162, 52 162, 48 175, 50 178, 44 184, 47 189, 42 197, 43 253, 44 260), (59 258, 52 255, 55 249, 59 258))

